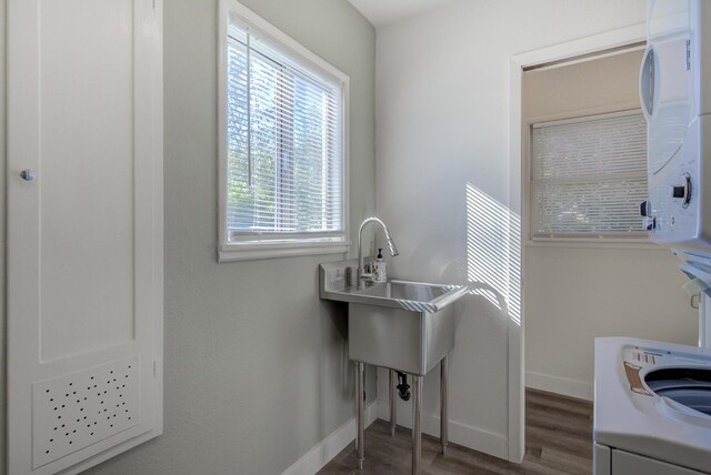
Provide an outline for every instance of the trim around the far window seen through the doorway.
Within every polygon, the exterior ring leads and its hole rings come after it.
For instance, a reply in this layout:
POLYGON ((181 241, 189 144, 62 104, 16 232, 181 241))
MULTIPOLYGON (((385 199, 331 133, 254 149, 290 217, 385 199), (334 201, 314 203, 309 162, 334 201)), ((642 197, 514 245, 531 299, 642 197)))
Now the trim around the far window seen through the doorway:
MULTIPOLYGON (((522 244, 525 247, 587 247, 587 249, 647 249, 658 250, 660 246, 649 240, 648 236, 630 236, 630 238, 611 238, 590 234, 585 236, 563 236, 555 238, 537 236, 531 233, 531 213, 533 203, 531 203, 531 128, 533 124, 545 124, 550 122, 561 123, 565 120, 578 121, 585 120, 592 115, 633 113, 640 110, 639 102, 624 102, 614 105, 603 105, 589 109, 579 109, 574 111, 559 112, 554 114, 538 115, 527 118, 521 121, 521 198, 522 198, 522 244)), ((641 216, 640 216, 641 219, 641 216)))

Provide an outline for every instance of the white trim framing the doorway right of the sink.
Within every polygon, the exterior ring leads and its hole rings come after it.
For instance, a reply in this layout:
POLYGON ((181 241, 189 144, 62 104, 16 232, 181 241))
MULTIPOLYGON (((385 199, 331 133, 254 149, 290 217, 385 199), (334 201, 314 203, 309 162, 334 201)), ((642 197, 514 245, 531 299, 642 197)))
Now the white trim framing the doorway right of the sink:
MULTIPOLYGON (((647 23, 638 23, 619 30, 608 31, 591 37, 581 38, 551 47, 515 54, 510 60, 510 139, 509 139, 509 203, 511 214, 521 213, 523 209, 522 202, 522 78, 523 71, 531 68, 543 67, 549 64, 558 64, 569 60, 583 59, 594 55, 595 53, 604 53, 605 51, 614 51, 628 46, 634 46, 647 40, 647 23)), ((523 218, 523 216, 522 216, 523 218)), ((523 297, 523 267, 525 263, 525 250, 523 246, 524 233, 528 223, 520 222, 519 235, 515 244, 520 250, 520 286, 521 290, 521 324, 509 324, 509 422, 508 422, 508 439, 509 439, 509 461, 521 463, 525 451, 525 360, 524 360, 524 325, 525 325, 525 303, 523 297)))

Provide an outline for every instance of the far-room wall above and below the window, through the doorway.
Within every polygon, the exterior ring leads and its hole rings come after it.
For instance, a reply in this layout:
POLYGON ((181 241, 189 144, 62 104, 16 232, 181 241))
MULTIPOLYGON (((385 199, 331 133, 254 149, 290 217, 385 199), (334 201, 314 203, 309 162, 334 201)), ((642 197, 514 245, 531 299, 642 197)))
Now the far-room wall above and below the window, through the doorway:
MULTIPOLYGON (((641 59, 634 51, 524 73, 523 121, 639 108, 641 59)), ((528 245, 524 269, 530 387, 592 400, 595 336, 695 344, 698 314, 669 250, 528 245)))

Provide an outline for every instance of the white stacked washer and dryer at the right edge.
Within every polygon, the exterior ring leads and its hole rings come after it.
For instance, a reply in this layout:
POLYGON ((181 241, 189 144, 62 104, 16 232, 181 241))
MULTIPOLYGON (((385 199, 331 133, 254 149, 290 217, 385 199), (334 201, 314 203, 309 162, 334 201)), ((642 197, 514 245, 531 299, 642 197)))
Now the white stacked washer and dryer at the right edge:
POLYGON ((640 73, 650 239, 702 294, 699 347, 595 340, 595 475, 711 473, 711 0, 650 0, 640 73))

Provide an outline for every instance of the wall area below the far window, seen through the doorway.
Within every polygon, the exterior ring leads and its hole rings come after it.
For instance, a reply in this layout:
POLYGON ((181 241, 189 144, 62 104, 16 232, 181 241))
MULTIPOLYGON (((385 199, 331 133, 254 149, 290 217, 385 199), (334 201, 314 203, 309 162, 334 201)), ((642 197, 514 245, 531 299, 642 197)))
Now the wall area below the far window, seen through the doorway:
POLYGON ((669 251, 537 247, 527 265, 530 387, 592 400, 595 336, 697 343, 697 311, 669 251))

